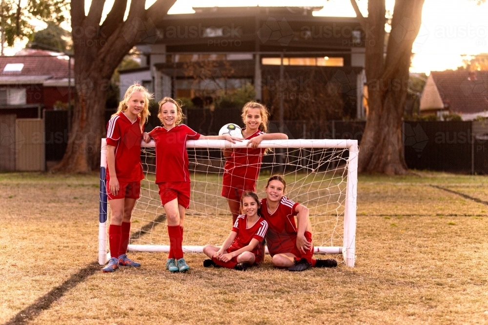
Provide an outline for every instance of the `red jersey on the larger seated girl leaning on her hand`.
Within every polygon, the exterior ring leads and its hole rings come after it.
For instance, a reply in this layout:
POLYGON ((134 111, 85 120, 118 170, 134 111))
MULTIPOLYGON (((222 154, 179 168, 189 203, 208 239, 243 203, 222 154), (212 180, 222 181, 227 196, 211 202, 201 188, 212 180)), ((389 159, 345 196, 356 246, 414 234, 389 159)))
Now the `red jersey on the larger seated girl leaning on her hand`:
POLYGON ((297 215, 295 211, 297 205, 298 202, 295 203, 283 196, 276 211, 269 213, 266 199, 261 200, 261 216, 269 225, 266 233, 269 254, 294 253, 296 255, 297 226, 294 216, 297 215))

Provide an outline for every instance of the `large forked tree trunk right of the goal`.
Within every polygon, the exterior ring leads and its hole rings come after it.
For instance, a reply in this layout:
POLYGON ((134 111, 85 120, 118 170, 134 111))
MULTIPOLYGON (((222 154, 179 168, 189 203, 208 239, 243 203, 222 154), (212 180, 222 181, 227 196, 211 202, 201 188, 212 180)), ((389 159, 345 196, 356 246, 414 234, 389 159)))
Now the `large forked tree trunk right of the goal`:
POLYGON ((420 30, 424 0, 396 0, 385 53, 385 0, 368 0, 364 17, 351 0, 366 31, 366 80, 369 113, 361 141, 360 172, 403 174, 402 117, 412 46, 420 30))

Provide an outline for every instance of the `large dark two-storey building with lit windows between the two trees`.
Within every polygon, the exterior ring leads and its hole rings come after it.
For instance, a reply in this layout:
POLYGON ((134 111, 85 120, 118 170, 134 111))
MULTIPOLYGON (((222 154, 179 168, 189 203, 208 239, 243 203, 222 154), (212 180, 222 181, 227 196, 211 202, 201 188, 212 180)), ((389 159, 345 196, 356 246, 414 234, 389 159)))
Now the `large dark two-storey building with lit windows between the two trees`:
MULTIPOLYGON (((312 80, 323 93, 338 93, 349 117, 365 117, 365 35, 356 18, 312 15, 322 7, 193 9, 194 14, 167 15, 141 31, 147 36, 137 46, 141 68, 120 72, 121 97, 138 81, 157 100, 187 97, 206 105, 250 83, 256 100, 276 106, 283 56, 285 77, 292 82, 287 91, 312 80)), ((302 89, 278 95, 309 96, 304 94, 302 89)))

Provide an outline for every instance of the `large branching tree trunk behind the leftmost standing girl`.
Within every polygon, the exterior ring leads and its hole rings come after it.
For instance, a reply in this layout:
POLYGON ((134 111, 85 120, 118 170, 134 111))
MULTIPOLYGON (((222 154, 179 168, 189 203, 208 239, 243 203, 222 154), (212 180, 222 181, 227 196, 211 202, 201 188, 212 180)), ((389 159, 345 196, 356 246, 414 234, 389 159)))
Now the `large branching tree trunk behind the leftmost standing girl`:
POLYGON ((89 172, 100 166, 105 100, 110 78, 129 50, 140 42, 154 43, 155 27, 175 0, 157 0, 144 9, 145 0, 115 0, 101 24, 105 0, 92 0, 85 15, 84 0, 71 0, 74 49, 75 106, 66 153, 57 170, 89 172))

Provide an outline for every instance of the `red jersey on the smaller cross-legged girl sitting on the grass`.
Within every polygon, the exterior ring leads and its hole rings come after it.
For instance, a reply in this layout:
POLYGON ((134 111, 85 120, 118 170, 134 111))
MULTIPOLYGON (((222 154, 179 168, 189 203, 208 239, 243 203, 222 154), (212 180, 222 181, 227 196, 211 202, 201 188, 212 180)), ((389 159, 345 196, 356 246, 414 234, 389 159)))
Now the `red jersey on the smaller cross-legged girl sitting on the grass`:
POLYGON ((256 238, 259 244, 251 251, 251 253, 258 256, 261 253, 263 247, 263 239, 268 229, 268 224, 263 218, 259 218, 258 221, 251 227, 247 228, 247 216, 242 214, 237 217, 232 231, 237 232, 236 239, 229 247, 229 251, 236 251, 249 245, 251 239, 256 238))

